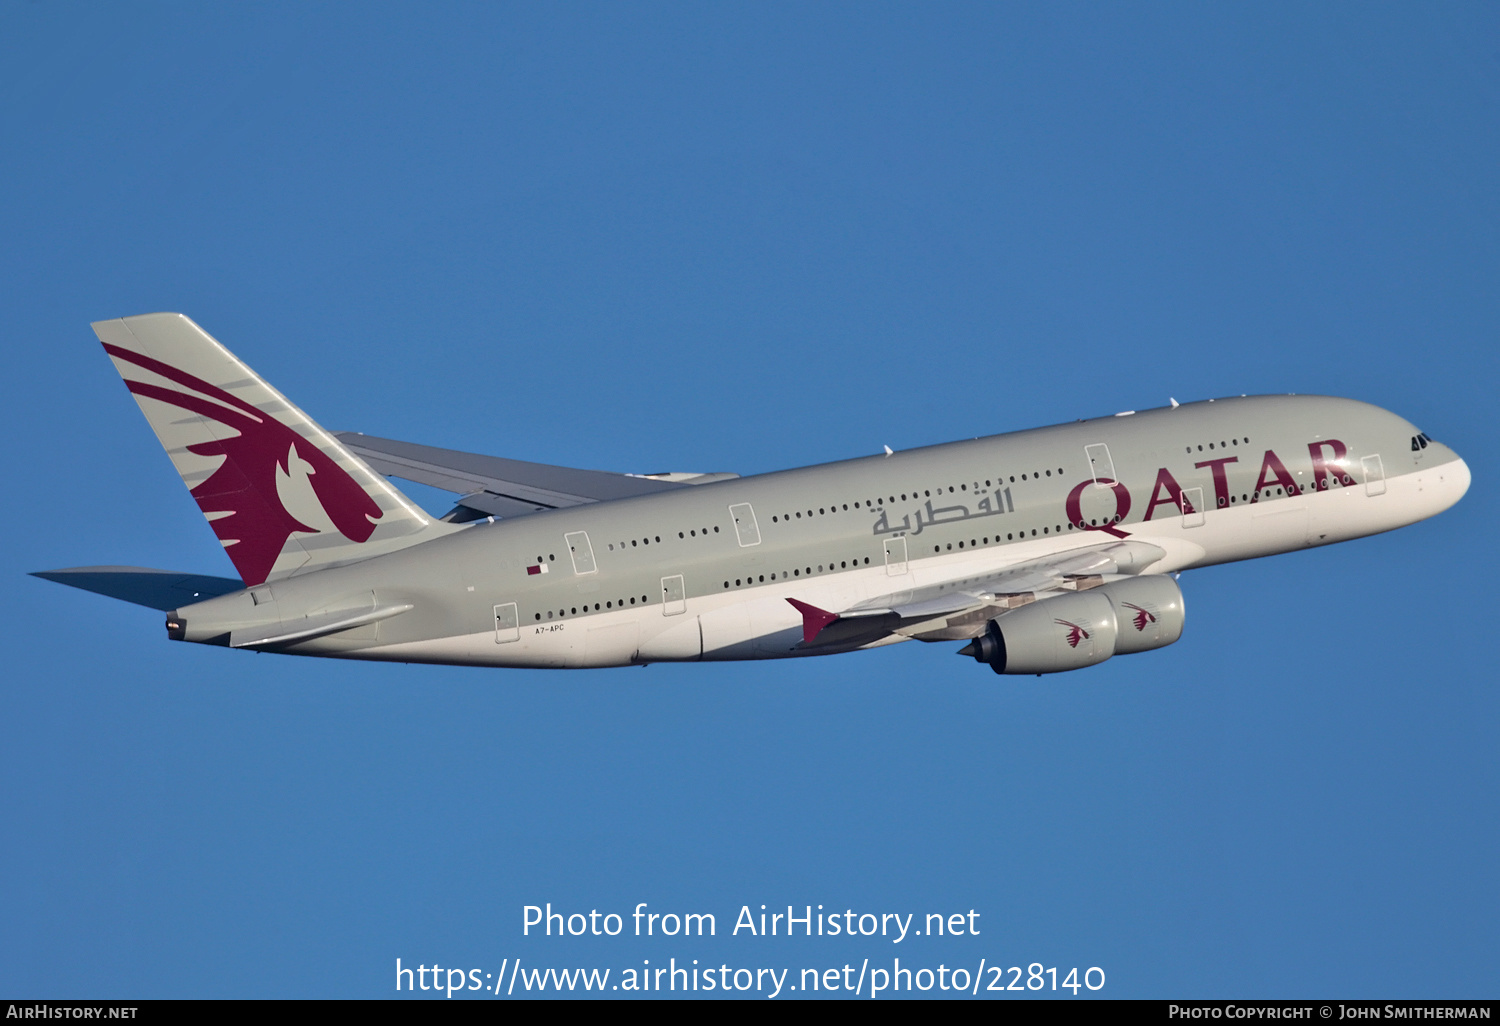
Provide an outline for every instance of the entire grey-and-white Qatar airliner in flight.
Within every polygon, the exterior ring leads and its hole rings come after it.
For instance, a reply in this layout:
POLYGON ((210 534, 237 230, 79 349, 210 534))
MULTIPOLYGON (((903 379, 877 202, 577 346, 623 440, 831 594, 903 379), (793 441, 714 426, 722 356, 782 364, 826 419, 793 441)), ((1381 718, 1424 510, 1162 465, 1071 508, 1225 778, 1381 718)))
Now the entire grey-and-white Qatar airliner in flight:
POLYGON ((93 328, 238 578, 36 576, 252 651, 604 668, 916 639, 1054 674, 1176 642, 1182 570, 1390 531, 1470 483, 1402 417, 1299 394, 752 477, 573 470, 327 432, 182 314, 93 328))

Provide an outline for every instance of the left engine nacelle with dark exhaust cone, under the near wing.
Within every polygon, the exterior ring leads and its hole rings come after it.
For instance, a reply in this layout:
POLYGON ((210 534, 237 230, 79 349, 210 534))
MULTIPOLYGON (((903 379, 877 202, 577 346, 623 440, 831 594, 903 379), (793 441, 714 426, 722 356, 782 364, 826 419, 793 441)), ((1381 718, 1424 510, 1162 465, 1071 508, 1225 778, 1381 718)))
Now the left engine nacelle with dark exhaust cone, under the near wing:
POLYGON ((1114 654, 1119 621, 1114 606, 1098 591, 1012 609, 992 620, 964 651, 996 674, 1060 674, 1102 663, 1114 654))

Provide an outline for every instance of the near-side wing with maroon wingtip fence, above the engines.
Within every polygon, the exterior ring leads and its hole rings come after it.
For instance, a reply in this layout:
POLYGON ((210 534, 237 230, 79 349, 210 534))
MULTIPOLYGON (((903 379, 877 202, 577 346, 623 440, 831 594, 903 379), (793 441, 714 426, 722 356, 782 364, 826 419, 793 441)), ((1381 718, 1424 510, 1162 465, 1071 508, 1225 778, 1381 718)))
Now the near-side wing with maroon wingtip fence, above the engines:
POLYGON ((842 612, 788 602, 802 615, 804 648, 861 645, 888 634, 964 640, 982 634, 986 624, 1008 609, 1047 592, 1084 591, 1107 579, 1138 574, 1166 555, 1146 542, 1107 542, 896 591, 842 612))

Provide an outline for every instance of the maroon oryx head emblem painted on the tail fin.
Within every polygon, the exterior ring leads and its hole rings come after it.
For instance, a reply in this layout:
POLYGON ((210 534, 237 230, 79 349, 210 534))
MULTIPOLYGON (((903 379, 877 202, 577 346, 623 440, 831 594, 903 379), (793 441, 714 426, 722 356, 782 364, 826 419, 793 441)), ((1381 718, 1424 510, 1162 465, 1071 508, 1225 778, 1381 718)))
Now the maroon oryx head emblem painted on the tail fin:
POLYGON ((231 538, 237 542, 225 552, 230 554, 234 568, 240 572, 240 579, 246 585, 266 582, 276 556, 294 531, 316 532, 288 513, 276 494, 276 470, 290 471, 291 454, 312 465, 312 490, 344 537, 351 542, 366 542, 375 531, 375 520, 382 516, 375 500, 350 477, 348 471, 296 430, 186 370, 108 342, 104 348, 112 357, 201 392, 204 396, 213 396, 219 402, 126 378, 124 384, 132 393, 189 410, 238 432, 234 438, 189 446, 188 452, 225 458, 219 470, 198 488, 190 489, 190 494, 206 514, 228 513, 210 520, 208 525, 220 542, 231 538))

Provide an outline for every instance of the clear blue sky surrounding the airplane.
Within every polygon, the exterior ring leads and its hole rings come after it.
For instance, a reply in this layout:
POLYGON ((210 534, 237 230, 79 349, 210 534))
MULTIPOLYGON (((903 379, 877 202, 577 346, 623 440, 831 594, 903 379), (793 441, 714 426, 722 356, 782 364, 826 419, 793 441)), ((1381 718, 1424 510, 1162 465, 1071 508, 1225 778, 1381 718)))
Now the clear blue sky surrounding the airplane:
POLYGON ((1100 966, 1108 996, 1494 996, 1497 28, 0 9, 0 993, 900 956, 1100 966), (543 462, 750 474, 1302 392, 1412 418, 1474 484, 1188 573, 1178 645, 1046 680, 920 644, 574 674, 228 652, 24 576, 232 573, 88 330, 164 309, 327 428, 543 462), (546 902, 720 936, 524 938, 546 902), (762 903, 981 934, 723 936, 762 903))

